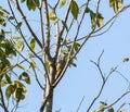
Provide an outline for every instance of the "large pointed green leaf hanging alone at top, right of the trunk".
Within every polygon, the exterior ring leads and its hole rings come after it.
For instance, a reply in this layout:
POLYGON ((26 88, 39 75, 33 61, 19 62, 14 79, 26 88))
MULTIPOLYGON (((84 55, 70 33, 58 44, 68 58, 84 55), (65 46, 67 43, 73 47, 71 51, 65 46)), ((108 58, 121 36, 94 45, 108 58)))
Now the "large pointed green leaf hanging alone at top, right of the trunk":
POLYGON ((76 3, 76 1, 74 1, 74 0, 70 3, 70 11, 72 11, 73 17, 75 20, 77 20, 78 13, 79 13, 79 8, 78 8, 78 4, 76 3))

